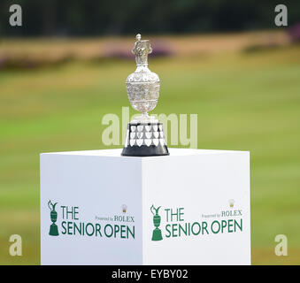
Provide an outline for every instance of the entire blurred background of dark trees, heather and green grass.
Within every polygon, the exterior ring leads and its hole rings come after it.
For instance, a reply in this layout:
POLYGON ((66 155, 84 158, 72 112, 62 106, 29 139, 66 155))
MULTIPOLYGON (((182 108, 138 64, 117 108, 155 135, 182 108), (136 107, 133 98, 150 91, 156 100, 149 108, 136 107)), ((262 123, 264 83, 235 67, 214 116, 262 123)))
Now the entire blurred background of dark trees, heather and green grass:
POLYGON ((137 33, 161 80, 154 112, 198 114, 198 149, 250 150, 252 264, 300 264, 299 23, 299 1, 1 0, 0 264, 40 264, 39 154, 107 148, 137 33), (9 255, 14 233, 23 256, 9 255))

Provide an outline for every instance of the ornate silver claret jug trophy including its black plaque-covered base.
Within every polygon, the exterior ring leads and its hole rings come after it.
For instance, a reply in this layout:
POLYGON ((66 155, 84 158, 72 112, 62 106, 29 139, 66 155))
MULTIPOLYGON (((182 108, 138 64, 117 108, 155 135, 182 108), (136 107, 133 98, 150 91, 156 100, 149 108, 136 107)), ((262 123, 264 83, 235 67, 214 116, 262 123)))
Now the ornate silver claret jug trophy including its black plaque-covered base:
POLYGON ((152 157, 169 155, 165 144, 163 124, 148 111, 158 104, 159 78, 148 68, 148 54, 152 52, 149 40, 141 40, 136 35, 135 47, 136 70, 126 80, 127 94, 131 106, 142 112, 127 126, 127 136, 122 156, 152 157))

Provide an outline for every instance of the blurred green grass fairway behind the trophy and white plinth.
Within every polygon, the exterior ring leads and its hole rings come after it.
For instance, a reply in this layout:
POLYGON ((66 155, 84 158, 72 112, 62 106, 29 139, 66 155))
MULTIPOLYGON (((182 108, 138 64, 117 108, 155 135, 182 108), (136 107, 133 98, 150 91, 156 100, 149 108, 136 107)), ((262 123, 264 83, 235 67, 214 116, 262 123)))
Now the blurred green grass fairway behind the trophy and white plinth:
MULTIPOLYGON (((199 149, 250 150, 252 264, 300 264, 300 47, 152 58, 150 69, 154 112, 197 113, 199 149), (274 255, 280 233, 288 256, 274 255)), ((39 153, 104 149, 101 120, 129 106, 134 70, 104 60, 0 71, 0 264, 40 263, 39 153), (9 256, 13 233, 23 256, 9 256)))

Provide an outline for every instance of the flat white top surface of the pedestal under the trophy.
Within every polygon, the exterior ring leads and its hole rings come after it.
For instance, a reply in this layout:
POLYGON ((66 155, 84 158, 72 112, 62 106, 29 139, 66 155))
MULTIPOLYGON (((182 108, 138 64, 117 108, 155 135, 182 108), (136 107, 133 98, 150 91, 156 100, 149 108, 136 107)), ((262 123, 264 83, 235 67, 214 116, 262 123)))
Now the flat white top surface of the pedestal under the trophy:
MULTIPOLYGON (((153 158, 153 157, 122 157, 122 149, 98 149, 98 150, 80 150, 80 151, 61 151, 45 152, 42 155, 66 155, 66 156, 93 156, 93 157, 121 157, 121 158, 153 158)), ((216 155, 216 154, 250 154, 250 151, 244 150, 220 150, 220 149, 176 149, 169 148, 170 156, 159 157, 182 157, 198 155, 216 155)))

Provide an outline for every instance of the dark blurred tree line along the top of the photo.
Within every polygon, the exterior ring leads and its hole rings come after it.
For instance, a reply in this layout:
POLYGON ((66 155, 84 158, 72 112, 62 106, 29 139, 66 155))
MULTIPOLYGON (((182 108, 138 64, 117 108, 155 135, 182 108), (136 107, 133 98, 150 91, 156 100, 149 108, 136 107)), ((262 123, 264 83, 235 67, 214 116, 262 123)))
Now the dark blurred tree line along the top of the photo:
MULTIPOLYGON (((273 0, 1 0, 1 36, 183 34, 276 28, 273 0), (9 25, 9 7, 22 7, 22 27, 9 25)), ((288 25, 300 21, 300 1, 288 25)))

